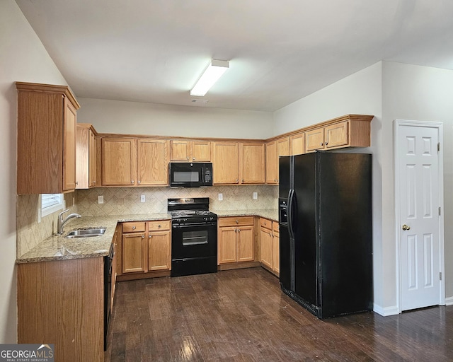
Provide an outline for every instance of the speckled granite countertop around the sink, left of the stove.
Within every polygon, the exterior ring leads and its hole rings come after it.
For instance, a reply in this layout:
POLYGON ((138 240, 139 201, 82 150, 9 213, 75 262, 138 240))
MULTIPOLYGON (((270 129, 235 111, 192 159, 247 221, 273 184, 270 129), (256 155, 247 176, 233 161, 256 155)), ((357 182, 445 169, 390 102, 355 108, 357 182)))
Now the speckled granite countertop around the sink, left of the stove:
POLYGON ((82 216, 64 226, 62 235, 52 235, 21 257, 16 263, 48 262, 52 260, 105 257, 108 255, 118 222, 152 221, 171 219, 169 214, 133 214, 115 216, 82 216), (89 238, 65 238, 72 230, 81 228, 106 228, 104 235, 89 238))

